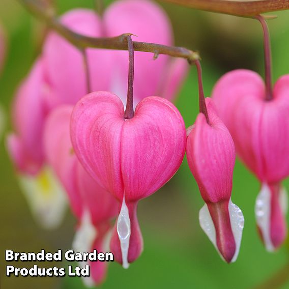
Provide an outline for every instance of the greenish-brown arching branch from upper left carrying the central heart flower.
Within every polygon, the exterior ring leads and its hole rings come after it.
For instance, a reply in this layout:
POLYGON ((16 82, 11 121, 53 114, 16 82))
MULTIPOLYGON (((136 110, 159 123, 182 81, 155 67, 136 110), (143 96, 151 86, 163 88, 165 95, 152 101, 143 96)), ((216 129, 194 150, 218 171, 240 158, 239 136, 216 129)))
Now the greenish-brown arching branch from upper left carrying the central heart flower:
MULTIPOLYGON (((74 33, 66 26, 54 17, 54 13, 51 10, 45 9, 39 0, 18 0, 20 3, 31 13, 35 14, 40 19, 46 21, 47 25, 64 37, 74 46, 79 49, 84 49, 88 47, 102 48, 102 49, 117 49, 117 50, 128 50, 126 37, 131 34, 123 34, 117 37, 111 38, 93 38, 83 36, 74 33)), ((133 42, 135 51, 151 52, 154 55, 166 54, 174 57, 182 57, 189 61, 189 63, 194 63, 199 59, 197 52, 175 46, 166 46, 155 43, 147 42, 133 42)))

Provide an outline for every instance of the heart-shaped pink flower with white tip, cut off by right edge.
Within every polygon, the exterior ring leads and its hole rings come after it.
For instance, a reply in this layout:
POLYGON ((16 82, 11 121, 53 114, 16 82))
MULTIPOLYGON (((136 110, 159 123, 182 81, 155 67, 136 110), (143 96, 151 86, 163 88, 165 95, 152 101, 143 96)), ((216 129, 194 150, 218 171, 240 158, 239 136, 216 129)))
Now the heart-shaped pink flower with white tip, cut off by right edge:
POLYGON ((218 113, 234 139, 241 160, 262 183, 255 214, 267 250, 285 240, 289 175, 289 76, 279 78, 273 99, 265 99, 262 78, 249 70, 225 74, 213 90, 218 113))

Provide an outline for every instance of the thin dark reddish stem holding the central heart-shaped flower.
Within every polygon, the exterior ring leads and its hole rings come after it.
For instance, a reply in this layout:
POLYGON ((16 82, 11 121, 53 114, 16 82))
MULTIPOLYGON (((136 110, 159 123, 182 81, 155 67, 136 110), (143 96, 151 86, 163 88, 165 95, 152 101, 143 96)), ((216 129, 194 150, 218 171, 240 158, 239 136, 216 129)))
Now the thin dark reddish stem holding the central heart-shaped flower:
POLYGON ((134 77, 134 50, 131 36, 127 36, 128 43, 128 85, 127 85, 127 104, 125 119, 133 118, 133 77, 134 77))

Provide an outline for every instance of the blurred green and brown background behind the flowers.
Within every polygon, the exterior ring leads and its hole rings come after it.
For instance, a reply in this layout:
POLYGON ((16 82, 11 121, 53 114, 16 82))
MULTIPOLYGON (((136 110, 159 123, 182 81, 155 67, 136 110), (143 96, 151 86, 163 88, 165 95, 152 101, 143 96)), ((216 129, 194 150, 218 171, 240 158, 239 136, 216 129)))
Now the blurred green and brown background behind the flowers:
MULTIPOLYGON (((226 71, 248 68, 264 74, 262 32, 257 21, 160 4, 171 18, 176 45, 200 51, 206 96, 210 96, 214 83, 226 71)), ((93 1, 57 1, 59 13, 75 7, 93 8, 93 1)), ((289 13, 274 14, 278 18, 270 20, 269 26, 276 80, 289 72, 289 13)), ((0 103, 6 110, 8 132, 11 101, 19 81, 41 49, 39 35, 43 25, 14 0, 1 0, 0 19, 9 39, 7 61, 0 79, 0 103)), ((196 72, 192 67, 176 102, 186 127, 193 124, 197 115, 197 96, 196 72)), ((52 232, 40 229, 19 190, 4 139, 1 140, 0 163, 3 288, 82 288, 79 278, 5 277, 6 249, 17 252, 70 249, 75 220, 69 212, 59 229, 52 232)), ((284 185, 289 189, 288 181, 284 185)), ((198 211, 204 202, 185 158, 176 176, 139 204, 138 218, 145 241, 142 255, 128 270, 117 263, 110 264, 107 280, 101 288, 253 288, 266 282, 288 263, 289 246, 269 254, 259 240, 253 210, 259 187, 254 176, 237 160, 232 199, 244 213, 245 228, 239 258, 235 264, 227 265, 199 227, 198 211)), ((25 263, 17 265, 23 267, 25 263)), ((50 263, 39 265, 51 267, 50 263)), ((289 288, 289 284, 283 284, 282 288, 289 288)))

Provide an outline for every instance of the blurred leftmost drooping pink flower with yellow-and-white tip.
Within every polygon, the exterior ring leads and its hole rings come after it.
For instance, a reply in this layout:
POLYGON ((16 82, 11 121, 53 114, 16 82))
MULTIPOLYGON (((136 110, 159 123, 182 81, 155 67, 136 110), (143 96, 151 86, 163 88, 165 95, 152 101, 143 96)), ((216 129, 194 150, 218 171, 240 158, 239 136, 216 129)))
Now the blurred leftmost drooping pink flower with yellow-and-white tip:
POLYGON ((39 60, 17 92, 12 115, 15 132, 8 135, 7 149, 35 219, 46 228, 54 228, 64 216, 66 197, 44 162, 42 134, 48 93, 39 60))

